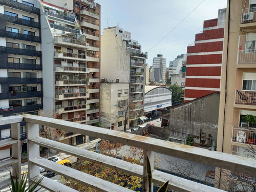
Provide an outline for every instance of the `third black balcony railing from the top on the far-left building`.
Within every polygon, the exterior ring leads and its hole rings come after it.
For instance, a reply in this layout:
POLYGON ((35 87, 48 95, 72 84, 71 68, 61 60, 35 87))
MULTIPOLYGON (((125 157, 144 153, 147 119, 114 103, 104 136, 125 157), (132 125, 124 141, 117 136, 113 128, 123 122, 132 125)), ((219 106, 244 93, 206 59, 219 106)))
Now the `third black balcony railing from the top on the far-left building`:
POLYGON ((7 38, 13 38, 13 39, 19 39, 19 40, 41 42, 41 38, 38 36, 26 35, 23 33, 13 33, 13 32, 6 31, 6 30, 0 30, 0 36, 7 37, 7 38))

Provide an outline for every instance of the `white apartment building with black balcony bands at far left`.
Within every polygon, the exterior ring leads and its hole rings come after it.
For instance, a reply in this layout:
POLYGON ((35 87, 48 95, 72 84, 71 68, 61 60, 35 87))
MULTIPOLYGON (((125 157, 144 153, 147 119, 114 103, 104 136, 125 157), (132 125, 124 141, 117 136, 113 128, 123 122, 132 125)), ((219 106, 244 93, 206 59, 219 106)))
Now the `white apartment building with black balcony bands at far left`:
MULTIPOLYGON (((40 10, 32 1, 0 1, 0 117, 37 115, 42 109, 40 10)), ((10 125, 0 126, 0 140, 10 138, 10 125)), ((26 150, 26 123, 20 123, 26 150)), ((10 156, 0 148, 0 159, 10 156)))

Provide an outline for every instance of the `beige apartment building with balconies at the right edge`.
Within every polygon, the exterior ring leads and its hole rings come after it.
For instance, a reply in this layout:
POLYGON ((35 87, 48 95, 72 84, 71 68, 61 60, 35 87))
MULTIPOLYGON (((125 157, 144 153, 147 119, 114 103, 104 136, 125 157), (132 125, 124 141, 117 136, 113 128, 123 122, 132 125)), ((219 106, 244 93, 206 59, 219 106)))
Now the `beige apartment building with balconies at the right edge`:
POLYGON ((246 120, 256 116, 255 7, 256 1, 227 4, 217 143, 220 152, 248 158, 248 146, 256 147, 256 124, 246 120))

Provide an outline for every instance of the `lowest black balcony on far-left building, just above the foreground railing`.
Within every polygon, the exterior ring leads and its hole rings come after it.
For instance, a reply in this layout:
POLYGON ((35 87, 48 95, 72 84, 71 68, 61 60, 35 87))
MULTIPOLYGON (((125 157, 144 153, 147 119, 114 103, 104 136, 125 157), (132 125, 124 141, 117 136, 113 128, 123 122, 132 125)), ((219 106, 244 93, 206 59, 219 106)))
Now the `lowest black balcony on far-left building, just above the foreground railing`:
POLYGON ((26 105, 26 106, 6 106, 0 109, 0 115, 5 113, 23 113, 30 111, 38 111, 42 109, 42 104, 26 105))

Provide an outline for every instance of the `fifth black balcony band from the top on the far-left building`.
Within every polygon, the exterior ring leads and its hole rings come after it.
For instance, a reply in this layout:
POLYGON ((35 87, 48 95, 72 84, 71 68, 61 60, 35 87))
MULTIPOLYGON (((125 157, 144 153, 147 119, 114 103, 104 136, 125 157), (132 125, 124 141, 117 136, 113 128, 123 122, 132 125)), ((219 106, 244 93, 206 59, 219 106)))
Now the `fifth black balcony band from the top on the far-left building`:
POLYGON ((19 63, 19 62, 0 62, 0 69, 22 69, 22 70, 42 70, 42 65, 19 63))

